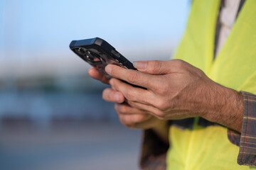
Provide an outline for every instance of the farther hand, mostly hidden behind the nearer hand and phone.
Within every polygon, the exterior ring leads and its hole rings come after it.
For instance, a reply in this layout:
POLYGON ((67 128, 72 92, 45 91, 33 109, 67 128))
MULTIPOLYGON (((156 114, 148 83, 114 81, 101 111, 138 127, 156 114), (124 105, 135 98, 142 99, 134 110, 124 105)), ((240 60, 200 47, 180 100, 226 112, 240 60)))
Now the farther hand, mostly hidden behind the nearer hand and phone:
MULTIPOLYGON (((94 79, 100 80, 106 84, 109 84, 109 80, 97 71, 95 68, 88 70, 90 76, 94 79)), ((139 129, 152 129, 156 132, 159 137, 165 142, 168 142, 168 125, 167 121, 159 120, 154 116, 141 111, 137 108, 132 108, 124 102, 124 96, 121 92, 115 91, 114 89, 107 88, 102 93, 102 98, 105 101, 116 103, 114 109, 117 111, 120 122, 128 128, 139 128, 139 129)))

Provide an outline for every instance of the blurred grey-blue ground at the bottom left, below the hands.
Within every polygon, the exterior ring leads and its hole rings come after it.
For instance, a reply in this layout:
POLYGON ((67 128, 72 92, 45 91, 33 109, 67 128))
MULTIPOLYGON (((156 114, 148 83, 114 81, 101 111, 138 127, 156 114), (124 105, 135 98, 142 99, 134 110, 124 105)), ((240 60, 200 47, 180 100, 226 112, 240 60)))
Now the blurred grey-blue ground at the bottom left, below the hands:
POLYGON ((0 169, 136 170, 140 135, 118 123, 1 124, 0 169))

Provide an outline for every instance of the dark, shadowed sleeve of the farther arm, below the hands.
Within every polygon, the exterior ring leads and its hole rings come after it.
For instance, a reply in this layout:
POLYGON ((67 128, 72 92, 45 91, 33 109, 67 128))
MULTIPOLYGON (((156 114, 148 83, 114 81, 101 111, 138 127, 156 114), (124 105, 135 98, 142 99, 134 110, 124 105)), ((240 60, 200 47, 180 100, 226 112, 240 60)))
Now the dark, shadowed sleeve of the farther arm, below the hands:
POLYGON ((163 142, 153 130, 144 130, 140 166, 143 170, 165 170, 169 144, 163 142))

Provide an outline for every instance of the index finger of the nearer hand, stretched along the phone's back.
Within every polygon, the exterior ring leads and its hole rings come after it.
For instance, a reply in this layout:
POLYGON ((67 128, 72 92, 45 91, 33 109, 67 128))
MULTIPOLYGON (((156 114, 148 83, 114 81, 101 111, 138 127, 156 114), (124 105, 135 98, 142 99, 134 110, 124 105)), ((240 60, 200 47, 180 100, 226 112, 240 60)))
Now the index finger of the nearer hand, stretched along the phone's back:
POLYGON ((134 69, 124 69, 114 64, 108 64, 105 71, 110 76, 127 81, 130 84, 142 86, 146 89, 155 89, 154 75, 139 72, 134 69))

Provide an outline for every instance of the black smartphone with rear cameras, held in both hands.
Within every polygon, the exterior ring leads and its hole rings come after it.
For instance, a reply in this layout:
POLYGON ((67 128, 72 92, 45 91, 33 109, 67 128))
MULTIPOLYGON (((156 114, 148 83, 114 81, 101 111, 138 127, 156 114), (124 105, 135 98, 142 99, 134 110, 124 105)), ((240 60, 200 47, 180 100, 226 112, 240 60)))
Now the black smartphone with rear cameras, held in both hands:
MULTIPOLYGON (((110 75, 105 72, 107 64, 115 64, 126 69, 134 69, 132 62, 129 62, 123 55, 112 47, 107 41, 101 38, 90 38, 85 40, 73 40, 70 42, 70 49, 82 60, 95 67, 99 72, 110 79, 110 75)), ((127 83, 127 82, 126 82, 127 83)), ((129 83, 128 83, 129 84, 129 83)), ((132 85, 135 86, 135 85, 132 85)), ((141 86, 136 86, 145 89, 141 86)))

